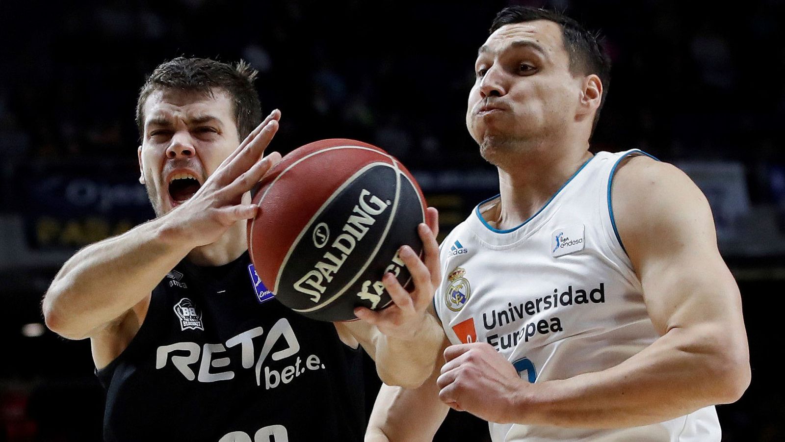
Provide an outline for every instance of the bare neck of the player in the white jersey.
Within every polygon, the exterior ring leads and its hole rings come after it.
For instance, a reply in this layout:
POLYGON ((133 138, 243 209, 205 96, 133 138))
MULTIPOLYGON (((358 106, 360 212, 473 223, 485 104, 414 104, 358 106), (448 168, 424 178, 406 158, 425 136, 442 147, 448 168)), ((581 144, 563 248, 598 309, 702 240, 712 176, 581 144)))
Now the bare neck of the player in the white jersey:
POLYGON ((497 206, 486 215, 487 221, 499 230, 523 224, 592 156, 588 151, 575 149, 558 156, 553 155, 553 151, 537 152, 526 155, 512 166, 499 167, 501 197, 497 206))

